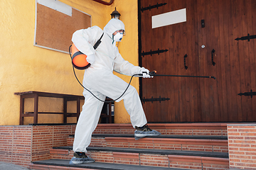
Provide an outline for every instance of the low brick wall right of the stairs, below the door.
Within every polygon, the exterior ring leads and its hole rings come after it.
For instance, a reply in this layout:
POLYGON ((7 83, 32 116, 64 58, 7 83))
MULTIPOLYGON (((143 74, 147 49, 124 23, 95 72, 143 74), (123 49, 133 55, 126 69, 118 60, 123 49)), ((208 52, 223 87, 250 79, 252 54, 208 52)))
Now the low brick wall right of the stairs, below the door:
POLYGON ((230 169, 256 169, 256 124, 228 125, 230 169))

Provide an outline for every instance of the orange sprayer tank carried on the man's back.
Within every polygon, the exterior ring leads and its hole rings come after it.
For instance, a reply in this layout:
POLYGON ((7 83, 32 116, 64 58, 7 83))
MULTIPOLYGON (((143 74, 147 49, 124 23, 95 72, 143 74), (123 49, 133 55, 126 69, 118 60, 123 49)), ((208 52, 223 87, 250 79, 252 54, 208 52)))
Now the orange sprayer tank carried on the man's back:
POLYGON ((74 44, 71 46, 71 54, 72 64, 76 69, 87 69, 90 67, 90 63, 86 60, 87 55, 80 52, 74 44))

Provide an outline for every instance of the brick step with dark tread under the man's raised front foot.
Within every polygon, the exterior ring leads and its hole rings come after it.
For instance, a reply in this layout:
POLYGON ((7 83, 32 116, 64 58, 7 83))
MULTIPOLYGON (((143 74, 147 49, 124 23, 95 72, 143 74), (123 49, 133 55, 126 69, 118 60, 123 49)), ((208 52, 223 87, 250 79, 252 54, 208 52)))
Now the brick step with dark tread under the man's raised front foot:
MULTIPOLYGON (((68 145, 72 146, 74 135, 68 137, 68 145)), ((134 135, 94 134, 90 147, 122 147, 137 149, 165 149, 201 152, 228 153, 228 137, 224 136, 191 136, 160 135, 134 140, 134 135)))

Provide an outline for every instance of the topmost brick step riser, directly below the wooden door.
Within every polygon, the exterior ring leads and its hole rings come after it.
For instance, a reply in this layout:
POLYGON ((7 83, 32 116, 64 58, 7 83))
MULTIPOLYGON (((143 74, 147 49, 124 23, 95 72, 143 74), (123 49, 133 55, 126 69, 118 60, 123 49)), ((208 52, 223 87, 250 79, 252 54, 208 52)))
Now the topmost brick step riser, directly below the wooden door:
MULTIPOLYGON (((148 123, 149 128, 162 135, 214 135, 228 136, 227 123, 148 123)), ((98 124, 94 134, 134 134, 132 124, 98 124)))

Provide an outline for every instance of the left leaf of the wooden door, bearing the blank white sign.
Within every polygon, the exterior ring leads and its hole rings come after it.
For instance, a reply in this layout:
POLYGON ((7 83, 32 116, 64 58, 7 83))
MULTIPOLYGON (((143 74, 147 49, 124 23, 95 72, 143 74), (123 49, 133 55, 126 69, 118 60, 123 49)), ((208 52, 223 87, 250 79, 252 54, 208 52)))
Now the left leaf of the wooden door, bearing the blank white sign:
MULTIPOLYGON (((153 2, 146 1, 146 3, 148 3, 146 5, 149 6, 149 4, 152 5, 153 2)), ((158 3, 164 3, 164 1, 158 1, 158 3)), ((188 1, 188 3, 191 4, 191 1, 188 1)), ((146 6, 145 4, 143 5, 146 6)), ((146 16, 146 11, 142 13, 142 30, 145 30, 142 31, 142 37, 147 39, 147 42, 143 42, 142 40, 142 51, 144 51, 144 49, 151 50, 150 47, 153 49, 160 48, 169 50, 164 54, 142 57, 142 65, 144 67, 150 70, 156 69, 159 74, 195 75, 197 72, 197 68, 195 67, 196 55, 192 50, 192 46, 195 46, 195 44, 190 41, 191 39, 195 40, 195 36, 191 36, 192 34, 195 35, 194 27, 186 23, 180 23, 174 26, 151 29, 149 26, 146 27, 144 23, 149 21, 151 16, 181 8, 186 8, 186 1, 167 3, 166 6, 163 6, 161 9, 159 7, 158 11, 148 11, 148 16, 146 16), (149 33, 154 35, 154 40, 149 40, 149 33), (184 55, 186 54, 188 55, 186 63, 190 67, 189 69, 185 69, 184 67, 184 55)), ((194 11, 193 6, 190 8, 191 11, 194 11)), ((188 16, 192 18, 193 14, 189 13, 188 16)), ((189 22, 195 24, 194 19, 189 20, 189 22)), ((149 121, 156 121, 156 118, 153 116, 155 113, 152 113, 152 116, 149 114, 151 111, 161 115, 157 117, 158 119, 161 118, 160 122, 197 121, 200 117, 198 115, 198 79, 155 77, 151 83, 148 81, 148 79, 143 79, 143 97, 151 98, 152 96, 163 96, 171 98, 169 101, 163 101, 161 103, 144 103, 144 109, 149 121), (154 91, 146 90, 147 88, 151 89, 151 87, 153 87, 154 91)))

